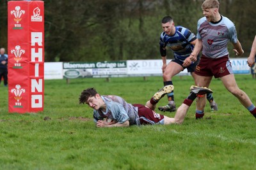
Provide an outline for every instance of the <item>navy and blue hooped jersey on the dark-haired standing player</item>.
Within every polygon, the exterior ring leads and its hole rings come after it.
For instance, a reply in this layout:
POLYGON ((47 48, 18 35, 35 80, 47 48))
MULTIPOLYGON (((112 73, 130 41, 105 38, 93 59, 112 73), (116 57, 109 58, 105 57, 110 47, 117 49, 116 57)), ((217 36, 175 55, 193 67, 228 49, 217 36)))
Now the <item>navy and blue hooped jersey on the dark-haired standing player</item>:
POLYGON ((193 51, 194 45, 191 45, 192 41, 195 41, 196 36, 189 29, 177 26, 173 36, 169 36, 165 32, 162 32, 160 36, 160 47, 170 47, 174 53, 175 59, 181 60, 182 62, 189 57, 193 51))

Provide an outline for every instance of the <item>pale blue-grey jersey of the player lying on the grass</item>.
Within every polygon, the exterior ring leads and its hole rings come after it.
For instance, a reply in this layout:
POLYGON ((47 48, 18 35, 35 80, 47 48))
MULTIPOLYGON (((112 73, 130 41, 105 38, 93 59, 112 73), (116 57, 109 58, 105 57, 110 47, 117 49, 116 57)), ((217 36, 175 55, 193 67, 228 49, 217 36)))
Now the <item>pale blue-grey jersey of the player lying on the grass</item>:
POLYGON ((96 123, 103 118, 111 118, 120 124, 129 120, 130 125, 140 125, 138 116, 138 108, 127 103, 122 97, 119 96, 101 96, 106 104, 106 111, 93 110, 93 118, 96 123))

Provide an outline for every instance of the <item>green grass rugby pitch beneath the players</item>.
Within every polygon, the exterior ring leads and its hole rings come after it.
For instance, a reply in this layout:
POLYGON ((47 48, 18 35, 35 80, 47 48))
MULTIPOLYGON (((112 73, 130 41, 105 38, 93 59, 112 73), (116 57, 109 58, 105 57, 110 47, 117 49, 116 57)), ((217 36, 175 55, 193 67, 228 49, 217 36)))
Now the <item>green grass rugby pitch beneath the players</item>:
MULTIPOLYGON (((237 84, 256 104, 251 75, 237 84)), ((179 106, 193 84, 173 78, 179 106)), ((0 169, 255 169, 256 122, 218 79, 211 89, 218 111, 195 120, 195 103, 182 125, 97 128, 92 109, 79 105, 82 90, 122 96, 145 104, 163 85, 161 77, 45 80, 44 111, 8 113, 8 89, 0 87, 0 169), (45 117, 51 119, 44 120, 45 117)), ((164 97, 158 106, 165 105, 164 97)), ((160 112, 159 113, 163 113, 160 112)), ((163 113, 173 117, 175 113, 163 113)))

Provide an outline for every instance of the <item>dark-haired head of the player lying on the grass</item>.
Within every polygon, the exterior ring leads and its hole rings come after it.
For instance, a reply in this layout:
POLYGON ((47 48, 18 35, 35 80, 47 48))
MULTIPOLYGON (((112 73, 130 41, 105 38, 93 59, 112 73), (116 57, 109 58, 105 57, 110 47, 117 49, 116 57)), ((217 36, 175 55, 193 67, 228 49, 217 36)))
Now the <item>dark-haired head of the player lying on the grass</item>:
POLYGON ((79 103, 86 103, 88 106, 90 106, 90 108, 93 108, 94 110, 99 110, 99 108, 101 108, 104 104, 100 94, 98 94, 94 88, 83 90, 79 97, 79 103))

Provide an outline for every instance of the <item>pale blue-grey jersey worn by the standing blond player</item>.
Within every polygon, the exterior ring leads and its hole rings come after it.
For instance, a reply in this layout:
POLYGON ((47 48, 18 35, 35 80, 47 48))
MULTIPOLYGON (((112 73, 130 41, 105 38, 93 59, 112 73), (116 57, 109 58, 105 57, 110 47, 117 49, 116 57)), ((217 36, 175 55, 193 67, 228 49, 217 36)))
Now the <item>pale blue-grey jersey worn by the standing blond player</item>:
POLYGON ((202 54, 212 59, 228 55, 227 43, 237 43, 237 33, 234 23, 221 16, 220 22, 207 22, 205 17, 197 23, 196 37, 202 40, 202 54))

